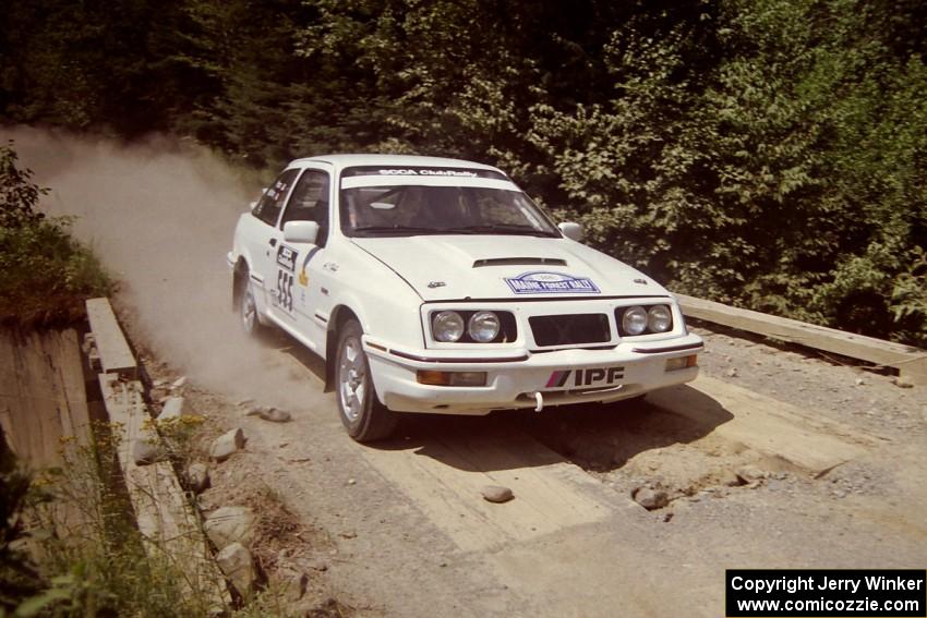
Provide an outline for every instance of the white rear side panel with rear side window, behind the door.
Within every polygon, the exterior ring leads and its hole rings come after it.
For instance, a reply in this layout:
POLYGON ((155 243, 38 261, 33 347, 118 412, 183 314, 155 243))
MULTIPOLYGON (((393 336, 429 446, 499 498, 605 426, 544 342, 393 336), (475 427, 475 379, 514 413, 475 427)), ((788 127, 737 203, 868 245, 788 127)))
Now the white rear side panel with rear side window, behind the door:
POLYGON ((262 298, 263 305, 267 307, 267 313, 274 315, 276 315, 274 308, 279 304, 276 263, 280 241, 282 240, 282 233, 280 232, 278 222, 280 220, 280 213, 284 210, 284 204, 292 191, 299 171, 298 169, 285 170, 267 187, 264 195, 257 202, 257 205, 251 211, 254 218, 250 220, 250 229, 245 234, 249 239, 248 244, 250 245, 248 246, 248 251, 253 260, 251 265, 252 270, 262 281, 264 292, 262 298))

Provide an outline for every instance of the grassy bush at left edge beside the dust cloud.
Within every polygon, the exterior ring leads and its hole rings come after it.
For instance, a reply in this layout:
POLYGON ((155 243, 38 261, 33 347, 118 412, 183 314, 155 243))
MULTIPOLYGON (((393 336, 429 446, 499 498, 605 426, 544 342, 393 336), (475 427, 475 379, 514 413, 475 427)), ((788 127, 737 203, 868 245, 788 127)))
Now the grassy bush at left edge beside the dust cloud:
POLYGON ((68 324, 84 300, 106 295, 110 282, 96 257, 68 233, 70 221, 35 207, 45 192, 16 166, 13 144, 0 146, 0 322, 68 324))

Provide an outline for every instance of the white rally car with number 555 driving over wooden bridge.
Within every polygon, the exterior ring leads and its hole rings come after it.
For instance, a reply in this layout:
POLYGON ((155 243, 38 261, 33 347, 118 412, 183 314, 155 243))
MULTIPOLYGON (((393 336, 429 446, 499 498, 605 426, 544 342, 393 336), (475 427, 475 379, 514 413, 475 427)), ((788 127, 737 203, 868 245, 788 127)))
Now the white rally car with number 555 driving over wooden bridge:
POLYGON ((607 402, 691 380, 702 341, 655 281, 581 244, 496 168, 333 155, 292 161, 228 254, 244 330, 326 361, 357 440, 394 412, 607 402))

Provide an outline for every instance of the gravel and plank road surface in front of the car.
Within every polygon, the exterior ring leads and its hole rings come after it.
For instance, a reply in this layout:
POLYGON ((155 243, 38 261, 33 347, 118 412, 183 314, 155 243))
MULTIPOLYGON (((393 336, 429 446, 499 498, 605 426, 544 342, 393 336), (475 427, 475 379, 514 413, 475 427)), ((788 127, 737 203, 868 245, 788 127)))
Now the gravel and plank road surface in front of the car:
MULTIPOLYGON (((706 378, 645 402, 414 416, 375 448, 346 437, 330 396, 276 425, 191 392, 249 435, 205 504, 260 506, 269 487, 312 531, 275 540, 275 566, 313 574, 305 604, 362 616, 718 616, 725 568, 923 568, 924 389, 702 335, 706 378), (787 376, 779 399, 767 362, 787 376), (745 464, 766 477, 742 484, 745 464), (487 483, 516 499, 484 501, 487 483), (670 506, 630 499, 648 483, 670 506)), ((284 336, 267 347, 270 371, 318 388, 316 360, 284 336)))

